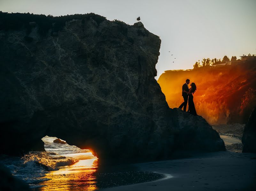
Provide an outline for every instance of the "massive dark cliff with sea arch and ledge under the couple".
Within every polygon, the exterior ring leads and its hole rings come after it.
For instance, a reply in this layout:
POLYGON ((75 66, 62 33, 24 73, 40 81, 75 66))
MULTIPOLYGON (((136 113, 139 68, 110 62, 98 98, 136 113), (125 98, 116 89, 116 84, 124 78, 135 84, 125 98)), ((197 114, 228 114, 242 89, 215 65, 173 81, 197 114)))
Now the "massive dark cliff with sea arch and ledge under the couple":
POLYGON ((203 118, 169 109, 154 79, 161 41, 141 23, 72 20, 54 35, 37 30, 30 42, 25 29, 0 31, 1 153, 44 150, 46 135, 103 161, 225 150, 203 118))

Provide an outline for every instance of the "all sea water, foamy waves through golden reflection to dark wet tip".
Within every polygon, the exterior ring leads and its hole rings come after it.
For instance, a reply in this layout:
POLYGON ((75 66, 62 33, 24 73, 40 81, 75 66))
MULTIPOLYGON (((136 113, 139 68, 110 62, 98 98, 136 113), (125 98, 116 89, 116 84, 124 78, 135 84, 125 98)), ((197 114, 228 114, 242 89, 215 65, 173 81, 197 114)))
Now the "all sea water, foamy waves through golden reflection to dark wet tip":
MULTIPOLYGON (((99 168, 97 157, 87 149, 54 143, 56 137, 44 137, 46 152, 29 152, 22 158, 0 156, 0 163, 29 184, 32 190, 97 190, 165 178, 131 166, 99 168)), ((63 140, 65 141, 65 140, 63 140)))

